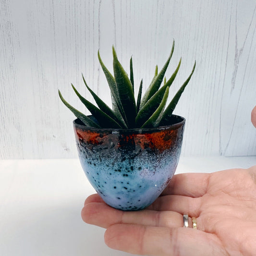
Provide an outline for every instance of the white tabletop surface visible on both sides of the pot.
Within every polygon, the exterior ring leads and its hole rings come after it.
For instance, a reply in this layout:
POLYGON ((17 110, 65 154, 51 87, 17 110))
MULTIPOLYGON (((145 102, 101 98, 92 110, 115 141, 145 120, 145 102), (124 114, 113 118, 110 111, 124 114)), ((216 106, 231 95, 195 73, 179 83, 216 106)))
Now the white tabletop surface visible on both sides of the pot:
MULTIPOLYGON (((181 158, 176 173, 248 168, 256 157, 181 158)), ((78 159, 0 161, 0 256, 128 256, 81 209, 95 193, 78 159)))

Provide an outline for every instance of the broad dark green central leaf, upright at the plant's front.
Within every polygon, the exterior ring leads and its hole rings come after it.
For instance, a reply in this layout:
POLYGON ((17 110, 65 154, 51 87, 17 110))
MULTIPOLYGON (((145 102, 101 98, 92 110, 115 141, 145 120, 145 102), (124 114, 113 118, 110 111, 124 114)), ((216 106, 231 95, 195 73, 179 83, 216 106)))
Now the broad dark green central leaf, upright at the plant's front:
POLYGON ((125 119, 127 120, 126 124, 128 128, 134 128, 136 116, 136 103, 134 99, 133 86, 127 73, 124 71, 121 63, 117 59, 114 47, 112 47, 112 50, 113 70, 118 96, 122 104, 125 119))

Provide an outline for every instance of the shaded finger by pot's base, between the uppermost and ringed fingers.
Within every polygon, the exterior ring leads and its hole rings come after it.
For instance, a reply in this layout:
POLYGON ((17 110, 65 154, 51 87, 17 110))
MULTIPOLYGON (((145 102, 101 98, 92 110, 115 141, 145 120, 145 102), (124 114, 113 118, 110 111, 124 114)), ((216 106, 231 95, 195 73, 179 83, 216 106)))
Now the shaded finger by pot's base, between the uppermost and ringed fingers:
POLYGON ((200 214, 201 197, 183 195, 163 195, 151 204, 148 209, 156 211, 175 211, 180 214, 198 217, 200 214))

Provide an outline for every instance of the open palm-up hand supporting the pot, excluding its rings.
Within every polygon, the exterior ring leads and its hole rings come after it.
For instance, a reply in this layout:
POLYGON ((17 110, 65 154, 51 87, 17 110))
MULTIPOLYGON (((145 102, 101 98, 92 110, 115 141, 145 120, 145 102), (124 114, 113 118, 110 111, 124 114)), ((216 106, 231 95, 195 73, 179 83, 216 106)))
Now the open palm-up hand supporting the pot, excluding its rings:
POLYGON ((106 228, 105 243, 140 255, 255 255, 256 166, 211 174, 174 175, 147 209, 123 212, 91 195, 85 222, 106 228), (183 228, 183 214, 197 230, 183 228))

